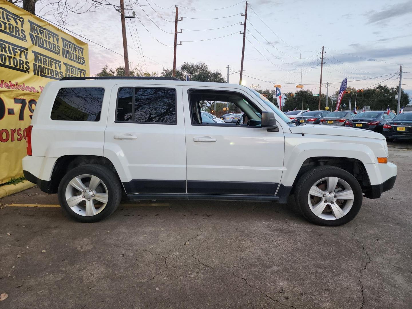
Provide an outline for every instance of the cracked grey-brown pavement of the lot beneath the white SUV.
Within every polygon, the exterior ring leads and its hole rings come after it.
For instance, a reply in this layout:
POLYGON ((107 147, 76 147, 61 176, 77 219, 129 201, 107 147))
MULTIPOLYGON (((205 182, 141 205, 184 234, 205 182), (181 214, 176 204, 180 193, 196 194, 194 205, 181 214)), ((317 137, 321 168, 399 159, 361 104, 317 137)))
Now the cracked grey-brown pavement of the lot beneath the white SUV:
POLYGON ((409 308, 412 143, 389 152, 395 187, 340 227, 293 199, 150 201, 93 224, 37 188, 0 199, 0 308, 409 308))

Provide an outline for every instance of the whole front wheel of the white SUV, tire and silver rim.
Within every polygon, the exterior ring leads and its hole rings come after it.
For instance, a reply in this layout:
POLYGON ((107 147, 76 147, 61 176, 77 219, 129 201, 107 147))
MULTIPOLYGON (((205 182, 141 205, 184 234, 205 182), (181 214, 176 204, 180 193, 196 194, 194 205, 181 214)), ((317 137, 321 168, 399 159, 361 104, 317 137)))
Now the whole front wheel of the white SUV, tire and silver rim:
POLYGON ((350 173, 335 166, 310 169, 298 180, 295 201, 310 222, 338 226, 351 221, 362 206, 362 189, 350 173))

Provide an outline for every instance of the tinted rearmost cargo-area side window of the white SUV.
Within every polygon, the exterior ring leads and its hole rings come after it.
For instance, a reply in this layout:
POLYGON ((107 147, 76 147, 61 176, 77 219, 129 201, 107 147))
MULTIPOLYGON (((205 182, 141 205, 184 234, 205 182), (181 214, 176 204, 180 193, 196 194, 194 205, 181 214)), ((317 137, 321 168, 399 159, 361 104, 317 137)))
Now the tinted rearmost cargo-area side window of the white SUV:
POLYGON ((52 120, 99 121, 103 88, 61 88, 54 100, 52 120))

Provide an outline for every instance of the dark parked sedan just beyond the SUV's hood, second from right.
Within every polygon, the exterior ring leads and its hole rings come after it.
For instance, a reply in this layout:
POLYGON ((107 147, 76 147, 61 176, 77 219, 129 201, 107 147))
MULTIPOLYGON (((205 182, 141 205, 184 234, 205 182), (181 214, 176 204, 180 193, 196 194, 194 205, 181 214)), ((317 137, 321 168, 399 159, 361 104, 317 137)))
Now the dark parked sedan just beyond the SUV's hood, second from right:
POLYGON ((384 124, 393 117, 395 117, 393 112, 390 112, 388 115, 383 110, 370 110, 356 114, 352 119, 345 122, 345 126, 382 133, 384 124))

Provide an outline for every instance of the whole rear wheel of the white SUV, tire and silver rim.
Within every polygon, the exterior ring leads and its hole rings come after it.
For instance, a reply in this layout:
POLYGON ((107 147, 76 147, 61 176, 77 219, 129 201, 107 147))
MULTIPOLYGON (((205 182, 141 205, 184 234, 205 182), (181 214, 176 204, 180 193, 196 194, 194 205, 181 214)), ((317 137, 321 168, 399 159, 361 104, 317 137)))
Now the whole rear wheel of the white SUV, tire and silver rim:
POLYGON ((61 207, 79 222, 107 218, 119 206, 122 187, 117 175, 105 166, 86 164, 66 173, 59 184, 61 207))

